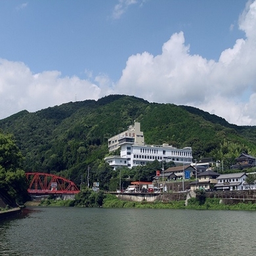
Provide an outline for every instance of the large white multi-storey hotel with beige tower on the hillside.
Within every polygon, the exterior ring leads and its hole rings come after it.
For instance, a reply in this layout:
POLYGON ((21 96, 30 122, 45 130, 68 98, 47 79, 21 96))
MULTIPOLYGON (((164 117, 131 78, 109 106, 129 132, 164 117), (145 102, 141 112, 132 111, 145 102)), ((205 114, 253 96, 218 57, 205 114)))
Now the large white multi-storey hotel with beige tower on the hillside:
POLYGON ((140 131, 140 123, 135 122, 127 131, 108 139, 108 150, 110 152, 120 148, 120 156, 108 156, 105 161, 114 169, 121 166, 134 167, 146 165, 148 161, 174 161, 176 164, 192 163, 192 148, 182 149, 163 145, 144 144, 144 135, 140 131))

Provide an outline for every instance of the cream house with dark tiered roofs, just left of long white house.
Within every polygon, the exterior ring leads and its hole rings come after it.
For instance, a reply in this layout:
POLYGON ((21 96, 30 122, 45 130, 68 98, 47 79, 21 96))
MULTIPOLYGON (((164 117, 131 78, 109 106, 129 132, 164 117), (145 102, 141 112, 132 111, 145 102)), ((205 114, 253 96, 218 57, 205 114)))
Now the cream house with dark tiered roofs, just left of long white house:
POLYGON ((190 189, 213 189, 215 184, 217 184, 217 177, 219 177, 219 173, 215 173, 215 171, 207 169, 206 171, 203 171, 203 173, 198 173, 196 181, 190 182, 190 189))

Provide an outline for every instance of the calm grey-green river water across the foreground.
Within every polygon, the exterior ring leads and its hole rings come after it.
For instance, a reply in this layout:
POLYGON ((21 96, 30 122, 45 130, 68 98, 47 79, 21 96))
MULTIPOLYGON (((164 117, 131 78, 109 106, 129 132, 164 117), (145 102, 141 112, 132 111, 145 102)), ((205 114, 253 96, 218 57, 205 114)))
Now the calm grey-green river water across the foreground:
POLYGON ((0 222, 0 255, 256 255, 255 211, 27 208, 0 222))

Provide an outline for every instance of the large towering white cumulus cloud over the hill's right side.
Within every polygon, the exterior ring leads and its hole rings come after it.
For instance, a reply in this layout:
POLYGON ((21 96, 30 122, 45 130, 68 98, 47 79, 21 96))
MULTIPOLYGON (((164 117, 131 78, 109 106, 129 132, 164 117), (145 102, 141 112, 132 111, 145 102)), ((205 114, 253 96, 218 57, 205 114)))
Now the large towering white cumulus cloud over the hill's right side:
POLYGON ((256 125, 256 1, 240 16, 245 39, 237 39, 218 61, 189 53, 184 34, 175 33, 160 55, 130 56, 114 90, 151 102, 201 108, 238 125, 256 125), (245 93, 251 96, 245 98, 245 93))

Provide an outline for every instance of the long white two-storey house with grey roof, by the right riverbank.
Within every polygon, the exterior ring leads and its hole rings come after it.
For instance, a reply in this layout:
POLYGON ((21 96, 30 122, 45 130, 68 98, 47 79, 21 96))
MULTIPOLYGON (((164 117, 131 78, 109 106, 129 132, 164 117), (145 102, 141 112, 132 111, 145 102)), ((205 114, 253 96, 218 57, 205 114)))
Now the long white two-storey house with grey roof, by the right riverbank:
POLYGON ((217 177, 216 190, 244 190, 246 173, 228 173, 217 177))

